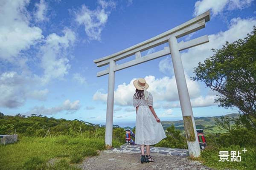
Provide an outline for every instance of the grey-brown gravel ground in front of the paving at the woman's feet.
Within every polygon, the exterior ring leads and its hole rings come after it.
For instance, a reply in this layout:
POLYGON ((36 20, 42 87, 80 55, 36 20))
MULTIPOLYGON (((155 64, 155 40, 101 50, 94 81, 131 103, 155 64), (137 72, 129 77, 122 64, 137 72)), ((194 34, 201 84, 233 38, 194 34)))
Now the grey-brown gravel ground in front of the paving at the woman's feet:
POLYGON ((151 153, 154 162, 141 163, 140 153, 117 153, 110 150, 99 152, 99 156, 84 159, 82 170, 213 170, 187 156, 170 156, 151 153))

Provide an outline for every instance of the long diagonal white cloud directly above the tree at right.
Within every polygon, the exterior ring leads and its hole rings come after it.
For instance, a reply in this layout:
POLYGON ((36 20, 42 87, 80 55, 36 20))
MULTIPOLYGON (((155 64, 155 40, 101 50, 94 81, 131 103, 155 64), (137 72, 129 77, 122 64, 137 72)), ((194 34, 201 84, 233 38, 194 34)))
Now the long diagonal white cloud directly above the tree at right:
MULTIPOLYGON (((204 62, 205 59, 213 55, 212 48, 219 49, 228 42, 234 42, 239 38, 242 39, 247 36, 253 30, 253 26, 256 25, 256 19, 254 18, 233 18, 230 20, 230 25, 226 31, 220 31, 216 34, 210 34, 209 42, 203 45, 198 45, 193 48, 189 48, 186 52, 181 53, 181 60, 183 68, 187 74, 192 75, 193 68, 198 66, 198 62, 204 62)), ((166 57, 159 63, 163 67, 160 71, 173 70, 172 58, 166 57)))

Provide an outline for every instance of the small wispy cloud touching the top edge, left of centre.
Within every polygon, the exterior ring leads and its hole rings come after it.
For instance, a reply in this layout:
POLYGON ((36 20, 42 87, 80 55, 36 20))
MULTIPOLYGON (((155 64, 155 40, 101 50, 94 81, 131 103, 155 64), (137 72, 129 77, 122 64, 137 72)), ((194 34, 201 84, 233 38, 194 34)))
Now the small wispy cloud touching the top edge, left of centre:
POLYGON ((35 4, 36 11, 35 11, 35 19, 37 22, 42 22, 47 20, 47 3, 44 0, 40 0, 39 3, 35 4))

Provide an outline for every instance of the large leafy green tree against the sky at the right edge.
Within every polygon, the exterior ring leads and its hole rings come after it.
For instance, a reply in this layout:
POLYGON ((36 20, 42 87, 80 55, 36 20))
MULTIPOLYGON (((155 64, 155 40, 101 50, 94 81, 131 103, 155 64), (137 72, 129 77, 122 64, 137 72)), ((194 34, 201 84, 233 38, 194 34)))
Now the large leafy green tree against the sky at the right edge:
POLYGON ((194 68, 193 80, 219 93, 219 107, 237 107, 256 127, 256 26, 244 40, 226 42, 194 68))

